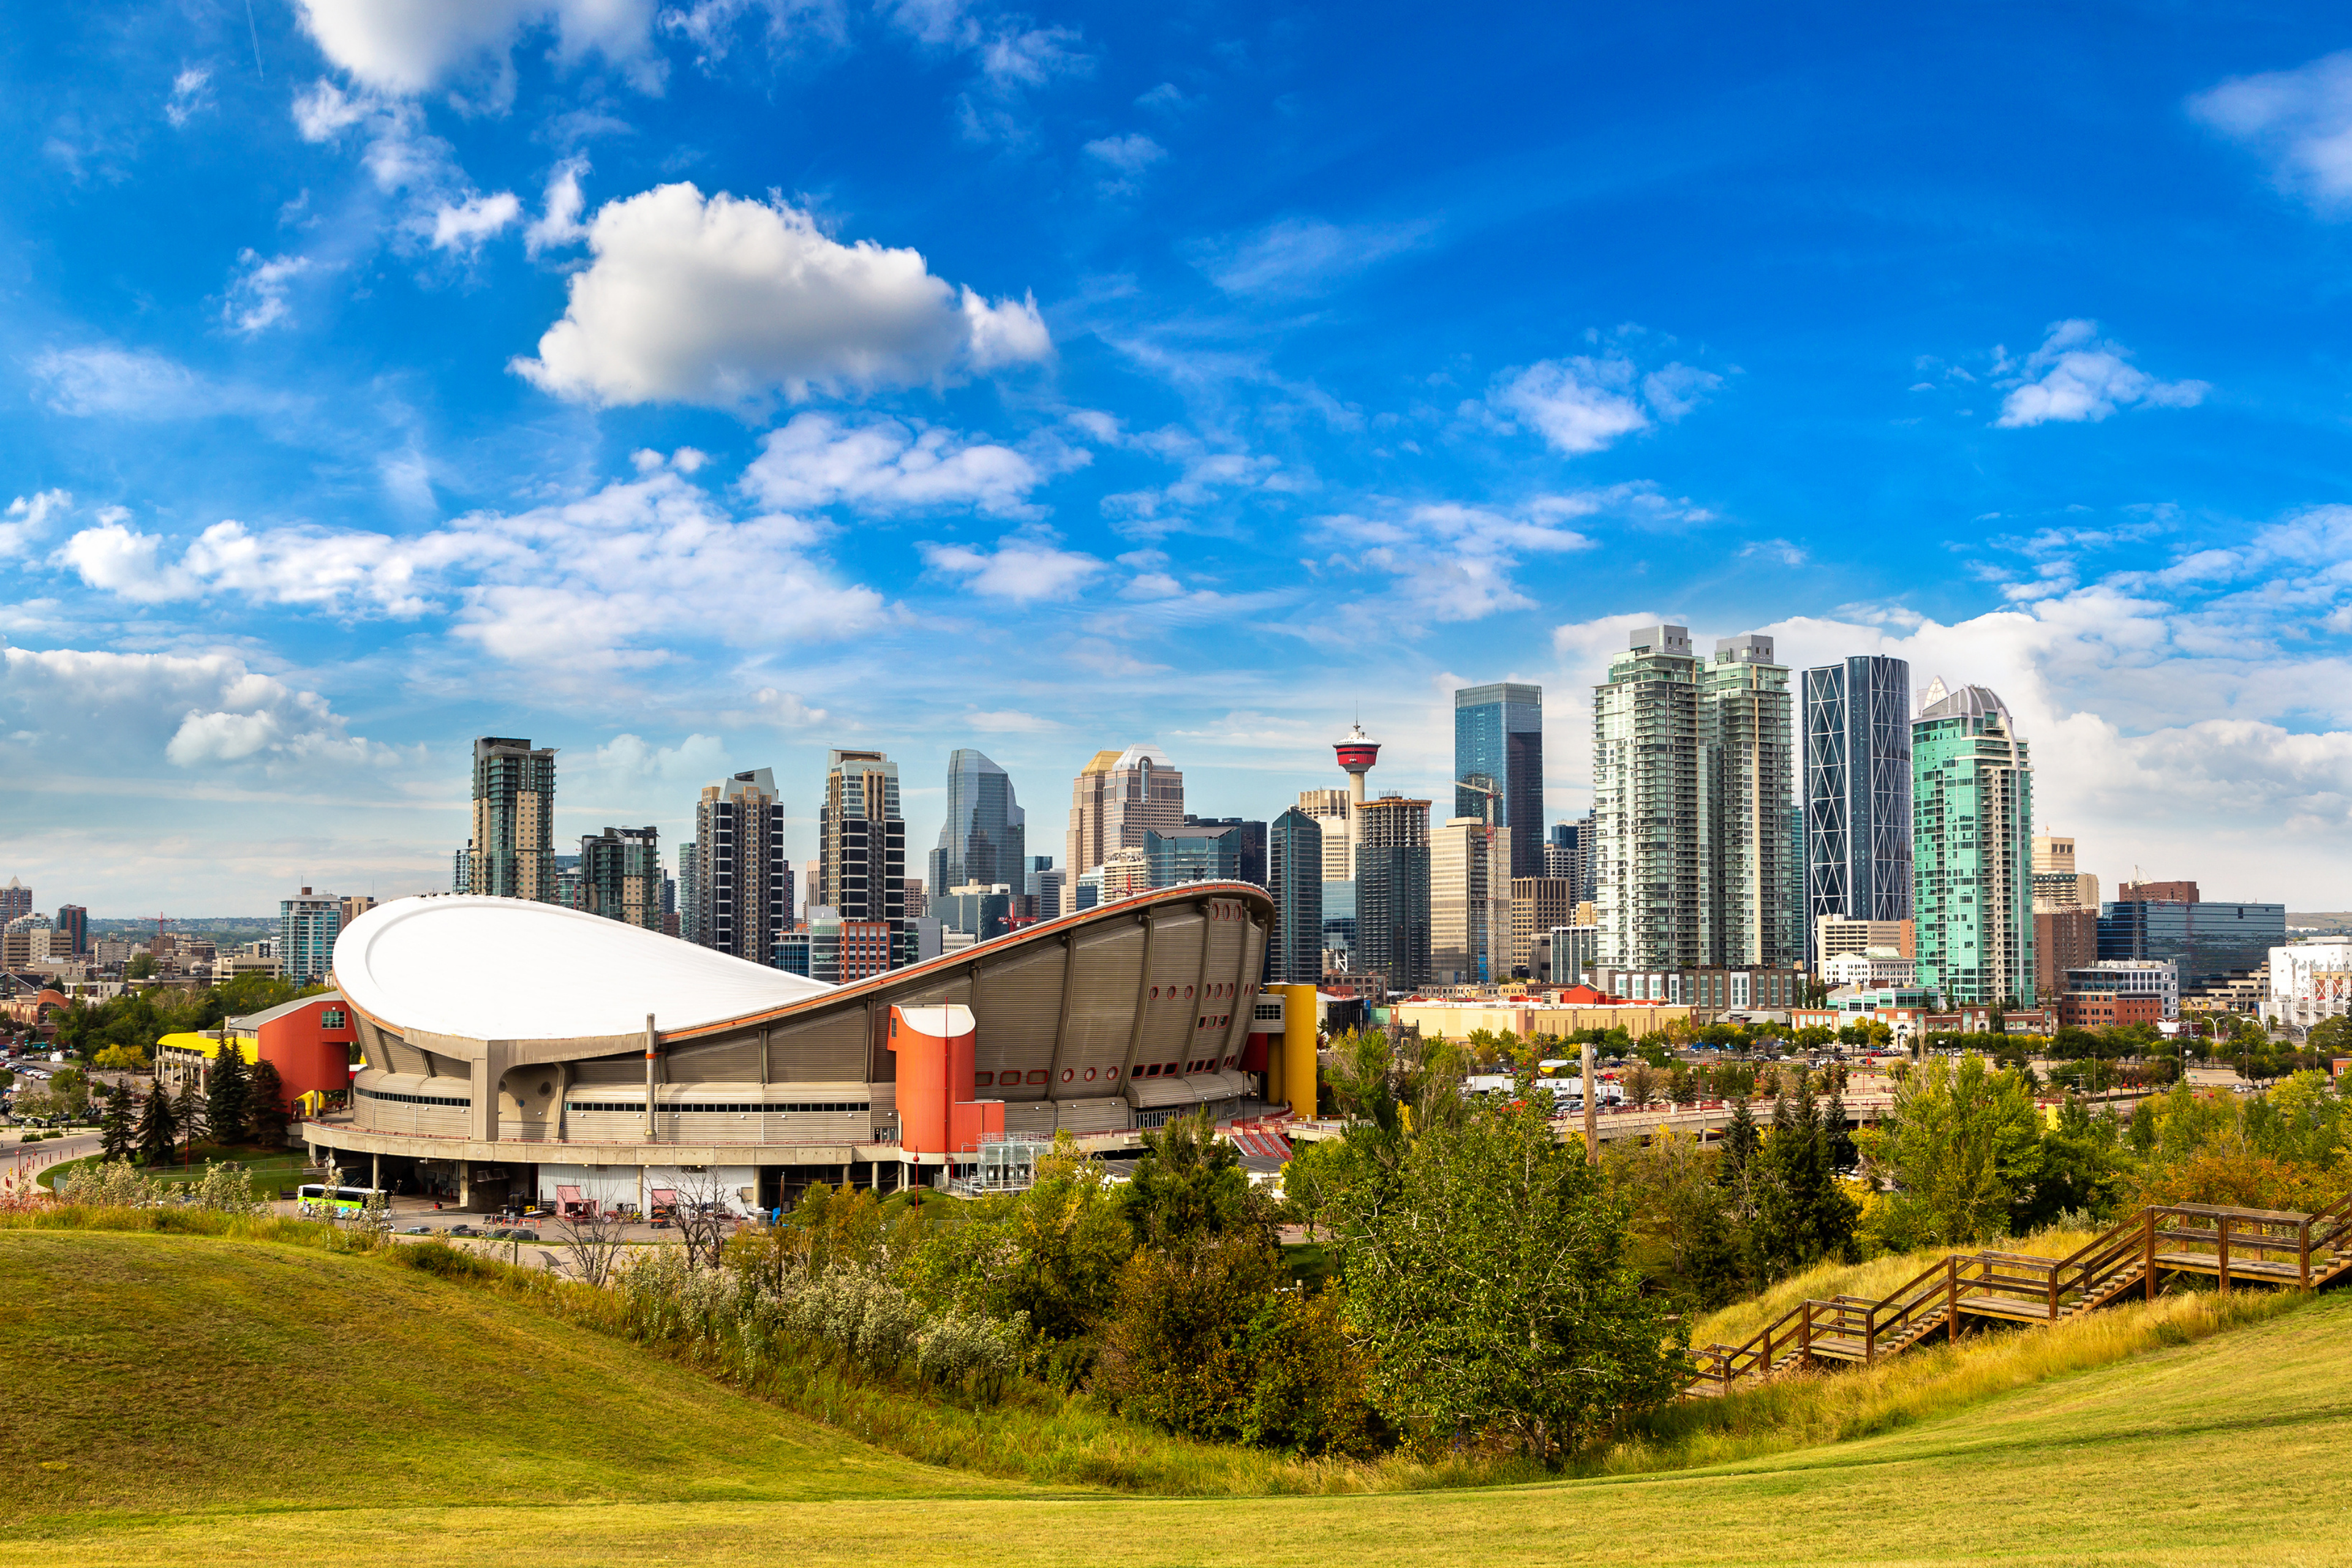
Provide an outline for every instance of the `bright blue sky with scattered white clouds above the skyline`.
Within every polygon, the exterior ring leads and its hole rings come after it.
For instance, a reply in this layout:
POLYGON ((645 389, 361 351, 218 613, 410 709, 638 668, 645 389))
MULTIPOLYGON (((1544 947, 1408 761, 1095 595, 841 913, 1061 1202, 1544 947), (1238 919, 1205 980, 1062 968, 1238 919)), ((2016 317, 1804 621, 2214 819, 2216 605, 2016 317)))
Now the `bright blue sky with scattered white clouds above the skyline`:
MULTIPOLYGON (((477 733, 1207 813, 1628 625, 1992 684, 2110 882, 2352 903, 2324 7, 183 0, 0 54, 7 875, 440 886, 477 733)), ((807 823, 795 858, 811 846, 807 823)), ((910 856, 920 858, 920 856, 910 856)))

